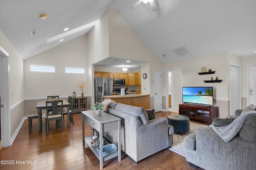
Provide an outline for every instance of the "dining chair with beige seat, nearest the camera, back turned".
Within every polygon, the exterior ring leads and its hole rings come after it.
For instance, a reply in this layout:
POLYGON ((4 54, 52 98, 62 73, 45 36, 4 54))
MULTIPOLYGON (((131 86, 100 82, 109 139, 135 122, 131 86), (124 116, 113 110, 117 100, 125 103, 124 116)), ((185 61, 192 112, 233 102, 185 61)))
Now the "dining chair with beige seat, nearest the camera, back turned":
POLYGON ((61 127, 61 132, 63 132, 63 119, 62 119, 62 108, 63 100, 52 100, 46 102, 46 115, 45 115, 45 127, 48 135, 49 132, 49 121, 58 120, 58 125, 61 127), (61 103, 61 105, 58 105, 61 103), (58 109, 60 108, 60 110, 58 109))

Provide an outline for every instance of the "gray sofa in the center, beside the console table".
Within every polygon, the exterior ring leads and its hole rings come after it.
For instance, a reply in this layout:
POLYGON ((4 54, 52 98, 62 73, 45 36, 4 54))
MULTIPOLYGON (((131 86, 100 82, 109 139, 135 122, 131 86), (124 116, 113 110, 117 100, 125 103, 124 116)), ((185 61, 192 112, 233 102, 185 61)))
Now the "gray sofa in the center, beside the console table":
MULTIPOLYGON (((122 103, 110 103, 106 112, 121 118, 121 150, 135 162, 171 147, 174 129, 167 118, 149 121, 144 107, 122 103)), ((104 132, 103 136, 117 145, 117 130, 104 132)))

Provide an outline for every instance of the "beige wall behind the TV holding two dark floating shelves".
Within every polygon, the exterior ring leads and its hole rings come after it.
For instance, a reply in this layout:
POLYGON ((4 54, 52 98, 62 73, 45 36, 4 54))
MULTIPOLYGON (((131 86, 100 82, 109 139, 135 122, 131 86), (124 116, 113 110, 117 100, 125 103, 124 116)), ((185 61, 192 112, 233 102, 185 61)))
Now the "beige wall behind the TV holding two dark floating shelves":
MULTIPOLYGON (((227 67, 227 53, 218 53, 213 55, 207 55, 204 57, 197 57, 192 59, 186 59, 182 61, 176 61, 172 63, 163 64, 163 76, 166 77, 166 70, 170 69, 182 69, 182 87, 196 87, 196 86, 212 86, 214 89, 214 105, 219 106, 220 117, 228 115, 228 82, 227 77, 229 73, 229 67, 227 67), (212 69, 216 71, 215 74, 199 75, 201 67, 206 67, 206 70, 212 69), (221 83, 205 83, 204 80, 210 80, 211 77, 215 79, 218 77, 223 80, 221 83), (218 104, 217 104, 218 101, 218 104), (225 103, 225 104, 223 104, 225 103)), ((163 94, 166 92, 166 79, 163 79, 163 94)), ((174 89, 175 90, 175 89, 174 89)), ((181 94, 180 94, 181 95, 181 94)), ((174 99, 175 100, 175 99, 174 99)), ((163 101, 166 102, 166 101, 163 101)), ((175 102, 175 101, 174 101, 175 102)), ((178 101, 180 102, 180 101, 178 101)), ((165 108, 163 108, 165 109, 165 108)), ((166 108, 167 109, 167 108, 166 108)))

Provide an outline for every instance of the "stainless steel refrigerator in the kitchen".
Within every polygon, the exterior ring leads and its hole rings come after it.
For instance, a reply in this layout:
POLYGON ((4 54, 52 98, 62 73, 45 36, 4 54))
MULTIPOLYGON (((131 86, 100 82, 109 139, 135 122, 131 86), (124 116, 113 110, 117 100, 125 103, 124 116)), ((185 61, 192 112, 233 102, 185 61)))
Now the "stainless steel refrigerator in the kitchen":
POLYGON ((113 95, 112 78, 94 78, 95 103, 103 101, 103 96, 113 95))

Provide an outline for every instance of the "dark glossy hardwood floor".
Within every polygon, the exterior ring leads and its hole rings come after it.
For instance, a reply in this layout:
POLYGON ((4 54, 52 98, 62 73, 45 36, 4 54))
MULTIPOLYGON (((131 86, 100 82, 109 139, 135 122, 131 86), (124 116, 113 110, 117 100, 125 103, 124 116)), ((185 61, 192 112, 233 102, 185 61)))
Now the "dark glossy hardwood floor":
MULTIPOLYGON (((166 117, 171 112, 158 112, 156 117, 166 117)), ((0 160, 1 170, 98 170, 99 160, 82 144, 82 113, 74 114, 75 125, 67 127, 67 117, 64 119, 64 129, 61 132, 55 121, 50 122, 49 135, 45 131, 45 119, 42 119, 43 131, 38 133, 37 119, 33 119, 31 133, 28 132, 28 121, 25 120, 13 144, 2 148, 0 160)), ((86 136, 90 135, 91 127, 86 125, 86 136)), ((164 149, 139 164, 122 152, 122 161, 117 157, 104 162, 106 170, 202 170, 192 168, 186 158, 164 149)))

